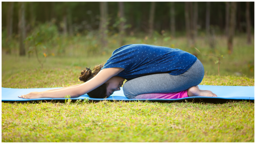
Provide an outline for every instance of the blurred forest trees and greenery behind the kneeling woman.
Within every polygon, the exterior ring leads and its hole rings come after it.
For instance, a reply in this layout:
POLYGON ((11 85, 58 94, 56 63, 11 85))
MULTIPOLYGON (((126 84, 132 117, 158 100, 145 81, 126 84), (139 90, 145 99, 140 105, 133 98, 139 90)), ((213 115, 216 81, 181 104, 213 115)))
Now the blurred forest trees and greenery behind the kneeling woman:
POLYGON ((221 75, 254 77, 254 2, 2 2, 4 71, 81 70, 126 44, 187 51, 206 75, 220 64, 221 75))

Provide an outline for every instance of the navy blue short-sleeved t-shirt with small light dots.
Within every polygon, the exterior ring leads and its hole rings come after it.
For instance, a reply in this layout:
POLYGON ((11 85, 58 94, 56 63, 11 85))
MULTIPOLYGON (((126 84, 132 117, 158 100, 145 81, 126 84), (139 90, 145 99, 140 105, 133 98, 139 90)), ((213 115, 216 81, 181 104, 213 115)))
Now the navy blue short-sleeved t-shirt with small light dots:
POLYGON ((137 77, 169 73, 177 76, 189 69, 197 57, 180 49, 147 44, 124 45, 112 53, 104 68, 124 68, 117 76, 131 80, 137 77))

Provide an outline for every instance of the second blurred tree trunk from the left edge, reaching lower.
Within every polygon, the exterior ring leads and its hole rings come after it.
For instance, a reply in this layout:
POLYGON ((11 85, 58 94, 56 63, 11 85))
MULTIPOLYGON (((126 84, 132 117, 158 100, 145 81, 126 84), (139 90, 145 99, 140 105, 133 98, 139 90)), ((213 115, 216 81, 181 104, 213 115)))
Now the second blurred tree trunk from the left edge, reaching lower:
POLYGON ((18 2, 19 3, 19 11, 18 11, 18 16, 19 16, 19 22, 18 22, 18 27, 19 27, 19 34, 20 34, 20 56, 26 55, 25 52, 25 45, 24 45, 24 40, 26 36, 26 27, 25 27, 25 2, 18 2))

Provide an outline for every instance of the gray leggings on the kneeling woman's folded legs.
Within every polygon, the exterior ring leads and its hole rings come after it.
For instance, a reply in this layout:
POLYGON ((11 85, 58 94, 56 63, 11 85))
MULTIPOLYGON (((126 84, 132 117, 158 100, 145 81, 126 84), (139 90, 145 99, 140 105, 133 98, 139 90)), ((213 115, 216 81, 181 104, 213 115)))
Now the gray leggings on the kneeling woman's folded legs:
POLYGON ((136 99, 136 96, 140 94, 180 92, 197 86, 203 77, 204 67, 197 59, 187 71, 178 76, 161 73, 126 81, 123 85, 123 92, 128 99, 136 99))

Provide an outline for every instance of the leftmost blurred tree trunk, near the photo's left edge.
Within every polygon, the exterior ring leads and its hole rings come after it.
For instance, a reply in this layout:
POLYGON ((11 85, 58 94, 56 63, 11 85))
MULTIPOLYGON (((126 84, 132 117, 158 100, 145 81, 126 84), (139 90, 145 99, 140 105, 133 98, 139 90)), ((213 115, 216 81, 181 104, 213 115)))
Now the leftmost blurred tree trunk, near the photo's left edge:
POLYGON ((14 2, 8 2, 7 24, 6 24, 8 41, 12 39, 13 6, 14 6, 14 2))

